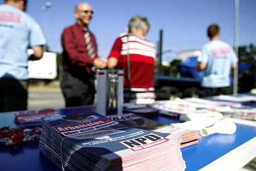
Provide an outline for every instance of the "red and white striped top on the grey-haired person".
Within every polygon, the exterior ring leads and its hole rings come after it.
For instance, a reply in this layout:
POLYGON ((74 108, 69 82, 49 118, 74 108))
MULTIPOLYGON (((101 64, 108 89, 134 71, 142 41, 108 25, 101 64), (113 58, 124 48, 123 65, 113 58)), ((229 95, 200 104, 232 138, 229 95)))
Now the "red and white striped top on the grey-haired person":
POLYGON ((109 57, 117 58, 117 68, 125 70, 125 99, 137 99, 137 103, 154 101, 156 48, 152 42, 143 36, 121 34, 115 41, 109 57), (127 53, 130 60, 131 82, 127 80, 127 53))

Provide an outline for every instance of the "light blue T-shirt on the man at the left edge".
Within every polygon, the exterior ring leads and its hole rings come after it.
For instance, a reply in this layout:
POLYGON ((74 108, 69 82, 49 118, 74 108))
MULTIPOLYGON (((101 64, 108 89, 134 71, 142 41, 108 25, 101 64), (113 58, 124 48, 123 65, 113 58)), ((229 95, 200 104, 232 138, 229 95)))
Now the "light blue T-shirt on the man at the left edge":
POLYGON ((38 23, 24 11, 0 5, 0 78, 28 79, 29 47, 46 44, 38 23))

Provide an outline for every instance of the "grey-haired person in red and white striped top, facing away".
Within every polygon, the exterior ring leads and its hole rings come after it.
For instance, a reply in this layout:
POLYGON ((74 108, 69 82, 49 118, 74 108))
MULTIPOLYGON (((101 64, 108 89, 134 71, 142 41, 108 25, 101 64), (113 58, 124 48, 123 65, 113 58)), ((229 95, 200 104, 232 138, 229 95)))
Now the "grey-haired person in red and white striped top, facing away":
POLYGON ((150 24, 146 17, 133 16, 128 33, 121 34, 108 56, 108 68, 123 68, 124 101, 154 103, 154 63, 156 48, 146 39, 150 24))

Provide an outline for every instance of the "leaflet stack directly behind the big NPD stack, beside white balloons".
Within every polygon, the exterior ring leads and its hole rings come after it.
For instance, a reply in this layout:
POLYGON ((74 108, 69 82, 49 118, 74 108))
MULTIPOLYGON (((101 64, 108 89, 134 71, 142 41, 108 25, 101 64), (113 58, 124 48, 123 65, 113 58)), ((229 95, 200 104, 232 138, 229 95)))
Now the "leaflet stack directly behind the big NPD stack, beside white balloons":
POLYGON ((181 148, 198 144, 201 137, 199 131, 171 127, 156 121, 152 121, 146 117, 135 115, 134 113, 125 113, 123 115, 108 115, 114 121, 117 121, 127 127, 135 127, 139 129, 147 129, 151 131, 159 131, 162 133, 174 133, 181 135, 181 148))

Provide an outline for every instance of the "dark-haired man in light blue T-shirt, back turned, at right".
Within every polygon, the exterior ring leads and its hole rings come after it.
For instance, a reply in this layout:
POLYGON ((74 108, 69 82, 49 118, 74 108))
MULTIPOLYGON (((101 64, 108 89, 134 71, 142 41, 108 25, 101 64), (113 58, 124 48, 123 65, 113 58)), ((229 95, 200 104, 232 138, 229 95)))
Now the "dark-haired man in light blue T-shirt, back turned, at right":
POLYGON ((197 58, 197 71, 205 70, 201 80, 205 94, 203 96, 230 94, 230 70, 237 67, 238 58, 232 47, 220 40, 218 25, 210 25, 207 36, 210 42, 203 46, 201 55, 197 58))

